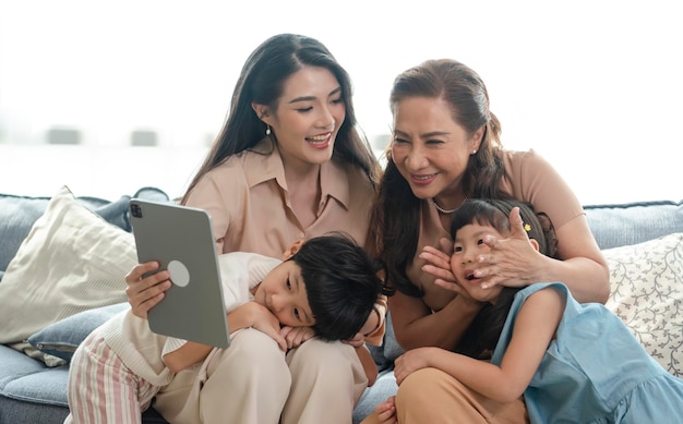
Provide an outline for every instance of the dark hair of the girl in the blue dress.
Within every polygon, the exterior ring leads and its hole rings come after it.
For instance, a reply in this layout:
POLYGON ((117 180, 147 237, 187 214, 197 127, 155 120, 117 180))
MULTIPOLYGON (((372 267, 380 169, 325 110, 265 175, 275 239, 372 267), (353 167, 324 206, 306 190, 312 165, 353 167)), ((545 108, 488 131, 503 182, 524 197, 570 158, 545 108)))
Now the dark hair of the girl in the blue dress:
MULTIPOLYGON (((554 257, 558 251, 558 239, 550 218, 543 213, 536 213, 525 202, 513 199, 468 199, 453 214, 451 235, 455 240, 457 231, 469 225, 491 226, 502 234, 510 233, 510 213, 519 207, 522 221, 529 239, 539 244, 539 252, 554 257), (527 227, 528 226, 528 227, 527 227)), ((504 287, 495 304, 487 303, 475 316, 455 351, 477 359, 488 359, 493 351, 503 330, 510 307, 519 287, 504 287)))

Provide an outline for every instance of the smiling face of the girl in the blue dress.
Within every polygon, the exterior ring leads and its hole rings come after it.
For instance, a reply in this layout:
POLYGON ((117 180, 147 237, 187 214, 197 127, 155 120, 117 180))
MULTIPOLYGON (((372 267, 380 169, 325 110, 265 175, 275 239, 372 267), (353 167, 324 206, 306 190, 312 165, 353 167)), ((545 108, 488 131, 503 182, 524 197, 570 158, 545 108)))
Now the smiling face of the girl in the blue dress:
POLYGON ((481 279, 474 276, 474 270, 478 265, 477 257, 491 251, 491 247, 483 242, 487 235, 496 239, 507 237, 491 226, 482 226, 477 222, 468 223, 457 230, 453 243, 453 255, 451 256, 451 270, 472 299, 479 302, 495 303, 503 286, 496 284, 489 289, 482 289, 481 279))

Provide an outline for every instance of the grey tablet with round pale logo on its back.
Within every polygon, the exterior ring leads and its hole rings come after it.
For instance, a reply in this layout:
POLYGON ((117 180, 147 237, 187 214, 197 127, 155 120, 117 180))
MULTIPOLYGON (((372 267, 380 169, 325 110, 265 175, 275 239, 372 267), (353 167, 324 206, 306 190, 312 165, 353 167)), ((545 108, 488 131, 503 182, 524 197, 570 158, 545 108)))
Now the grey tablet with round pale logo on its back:
POLYGON ((172 282, 147 314, 149 329, 227 348, 230 332, 209 215, 139 198, 131 199, 129 208, 139 262, 157 261, 172 282))

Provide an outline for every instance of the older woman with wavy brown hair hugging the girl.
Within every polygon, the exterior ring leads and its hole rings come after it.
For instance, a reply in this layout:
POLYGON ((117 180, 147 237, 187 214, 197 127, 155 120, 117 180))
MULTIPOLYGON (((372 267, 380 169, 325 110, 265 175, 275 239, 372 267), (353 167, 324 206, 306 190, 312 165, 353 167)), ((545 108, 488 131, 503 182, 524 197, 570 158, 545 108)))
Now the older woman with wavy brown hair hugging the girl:
MULTIPOLYGON (((488 240, 491 252, 480 257, 475 270, 482 287, 562 281, 580 302, 607 300, 608 266, 580 203, 534 150, 502 148, 500 122, 475 71, 454 60, 427 61, 396 77, 390 105, 394 137, 372 228, 379 232, 387 283, 396 289, 390 312, 404 349, 454 349, 481 308, 460 295, 450 272, 429 265, 429 251, 423 253, 424 246, 450 239, 451 216, 466 198, 512 196, 528 202, 550 217, 558 233, 555 257, 514 237, 488 240), (426 270, 436 271, 436 277, 426 270), (435 280, 450 282, 452 290, 435 280)), ((430 402, 412 407, 424 414, 441 408, 430 402)), ((524 421, 520 400, 501 405, 467 399, 454 416, 491 411, 524 421)))

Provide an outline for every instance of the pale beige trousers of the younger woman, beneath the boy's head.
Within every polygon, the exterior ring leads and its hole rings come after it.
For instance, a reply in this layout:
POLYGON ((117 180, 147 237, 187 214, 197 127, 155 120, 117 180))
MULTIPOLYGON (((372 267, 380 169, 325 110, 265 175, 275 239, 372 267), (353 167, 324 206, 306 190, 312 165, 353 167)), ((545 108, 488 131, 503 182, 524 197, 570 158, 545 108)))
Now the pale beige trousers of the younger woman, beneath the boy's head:
POLYGON ((170 423, 349 424, 368 384, 352 347, 305 341, 287 355, 255 329, 176 375, 154 408, 170 423))

